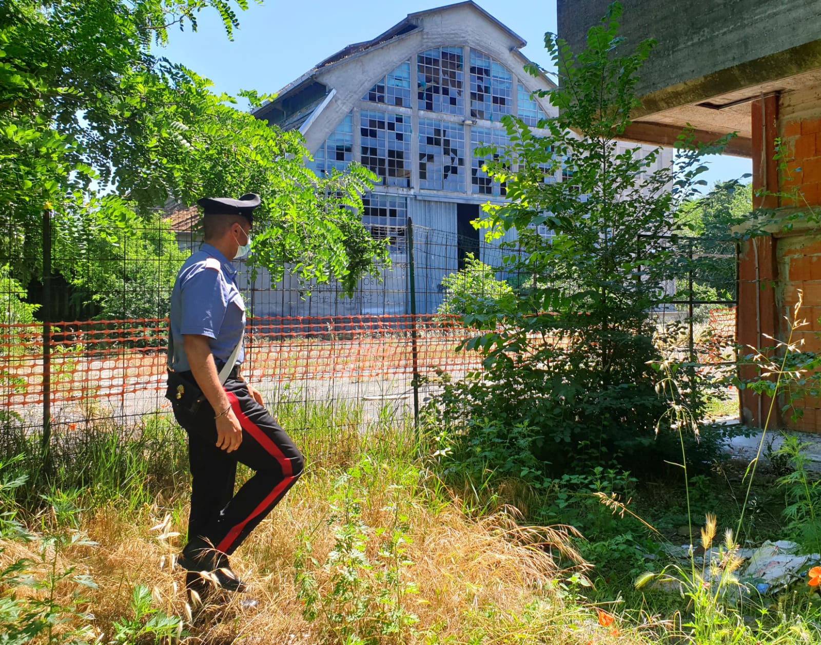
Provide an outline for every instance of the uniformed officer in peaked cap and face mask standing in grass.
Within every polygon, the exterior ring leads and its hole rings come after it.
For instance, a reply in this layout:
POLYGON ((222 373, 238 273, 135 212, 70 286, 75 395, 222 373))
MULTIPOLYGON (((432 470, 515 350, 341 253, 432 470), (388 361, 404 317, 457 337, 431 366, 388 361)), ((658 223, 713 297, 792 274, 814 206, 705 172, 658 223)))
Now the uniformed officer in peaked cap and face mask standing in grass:
MULTIPOLYGON (((248 253, 259 196, 208 197, 203 209, 204 244, 177 274, 171 296, 170 359, 183 385, 196 385, 204 401, 191 411, 169 396, 177 422, 188 434, 191 505, 188 543, 177 562, 186 587, 200 597, 217 583, 241 592, 245 584, 228 561, 245 537, 277 505, 302 473, 302 454, 265 410, 262 396, 241 375, 245 305, 231 264, 248 253), (236 356, 224 385, 222 366, 236 356), (236 464, 255 471, 234 494, 236 464), (206 572, 203 576, 200 572, 206 572)), ((170 389, 170 388, 169 388, 170 389)), ((171 390, 171 389, 170 389, 171 390)), ((172 390, 171 390, 172 391, 172 390)), ((179 396, 179 394, 178 394, 179 396)))

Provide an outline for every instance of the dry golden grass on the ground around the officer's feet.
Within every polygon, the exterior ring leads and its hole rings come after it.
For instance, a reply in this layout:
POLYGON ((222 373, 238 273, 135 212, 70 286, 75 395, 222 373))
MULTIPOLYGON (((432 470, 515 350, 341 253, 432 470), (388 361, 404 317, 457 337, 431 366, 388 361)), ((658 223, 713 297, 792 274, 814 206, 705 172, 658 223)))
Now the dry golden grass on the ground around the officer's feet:
MULTIPOLYGON (((195 609, 192 624, 186 620, 187 643, 336 642, 321 613, 312 623, 303 618, 294 562, 300 531, 310 534, 320 563, 333 549, 333 523, 328 520, 339 474, 314 469, 255 530, 232 558, 252 592, 236 595, 224 606, 195 609), (255 598, 259 606, 243 609, 244 597, 255 598)), ((375 476, 360 480, 366 488, 361 519, 369 527, 369 556, 375 557, 383 539, 376 528, 390 528, 393 505, 401 504, 410 526, 406 557, 413 563, 401 575, 419 590, 402 599, 405 609, 419 618, 413 632, 405 629, 398 638, 383 637, 380 643, 646 642, 635 630, 603 627, 594 610, 562 596, 557 579, 566 578, 568 571, 561 571, 558 562, 585 569, 568 546, 572 529, 523 528, 510 508, 470 519, 452 501, 432 503, 424 481, 398 479, 394 469, 383 464, 375 476)), ((184 575, 172 569, 180 538, 158 539, 158 532, 149 531, 169 511, 172 518, 177 512, 177 520, 164 532, 181 531, 185 517, 179 509, 185 504, 179 496, 163 509, 145 507, 131 518, 123 518, 113 506, 84 515, 83 530, 98 546, 70 547, 62 557, 63 564, 88 569, 99 585, 87 594, 97 629, 110 634, 112 623, 130 614, 131 593, 138 584, 153 588, 155 602, 168 614, 188 615, 184 575)), ((0 564, 35 548, 13 542, 0 546, 6 548, 0 564)), ((317 569, 314 575, 322 588, 328 572, 317 569)), ((66 597, 72 591, 68 583, 60 587, 66 597)))

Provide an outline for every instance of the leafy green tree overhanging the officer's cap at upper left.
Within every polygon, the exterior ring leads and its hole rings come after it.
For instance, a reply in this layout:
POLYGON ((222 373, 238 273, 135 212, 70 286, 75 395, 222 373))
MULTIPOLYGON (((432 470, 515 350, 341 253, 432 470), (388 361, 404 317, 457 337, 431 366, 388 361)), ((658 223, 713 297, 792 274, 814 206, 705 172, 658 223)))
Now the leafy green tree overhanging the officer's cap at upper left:
MULTIPOLYGON (((387 259, 360 224, 365 168, 318 179, 296 132, 268 127, 211 83, 153 52, 172 25, 218 11, 227 35, 247 0, 8 0, 0 3, 0 227, 22 283, 39 275, 44 209, 63 243, 88 251, 140 228, 167 200, 263 197, 256 258, 347 291, 387 259), (13 234, 11 233, 13 232, 13 234)), ((268 97, 242 93, 252 104, 268 97)), ((73 276, 67 275, 67 279, 73 276)))

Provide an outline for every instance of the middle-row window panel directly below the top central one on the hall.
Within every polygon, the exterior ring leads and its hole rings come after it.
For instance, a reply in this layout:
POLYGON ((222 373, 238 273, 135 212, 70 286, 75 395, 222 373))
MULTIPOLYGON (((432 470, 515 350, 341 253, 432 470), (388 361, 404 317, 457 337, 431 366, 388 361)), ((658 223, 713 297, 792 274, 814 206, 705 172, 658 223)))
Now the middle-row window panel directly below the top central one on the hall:
POLYGON ((420 188, 465 191, 465 127, 429 118, 419 120, 420 188))

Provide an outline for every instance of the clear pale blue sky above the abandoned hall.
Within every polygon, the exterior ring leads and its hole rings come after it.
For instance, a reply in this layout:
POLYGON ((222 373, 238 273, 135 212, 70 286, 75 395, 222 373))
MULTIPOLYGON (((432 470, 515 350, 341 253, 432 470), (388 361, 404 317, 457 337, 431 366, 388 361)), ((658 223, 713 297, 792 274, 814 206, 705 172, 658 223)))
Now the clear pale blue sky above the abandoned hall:
MULTIPOLYGON (((167 48, 155 50, 180 62, 228 94, 239 90, 271 93, 348 44, 369 40, 407 14, 447 4, 447 0, 269 0, 238 12, 240 29, 230 41, 216 12, 200 16, 196 33, 172 29, 167 48)), ((527 41, 522 51, 549 67, 544 32, 556 31, 553 0, 478 0, 478 4, 527 41)), ((713 182, 750 173, 750 159, 714 157, 704 178, 713 182)))

